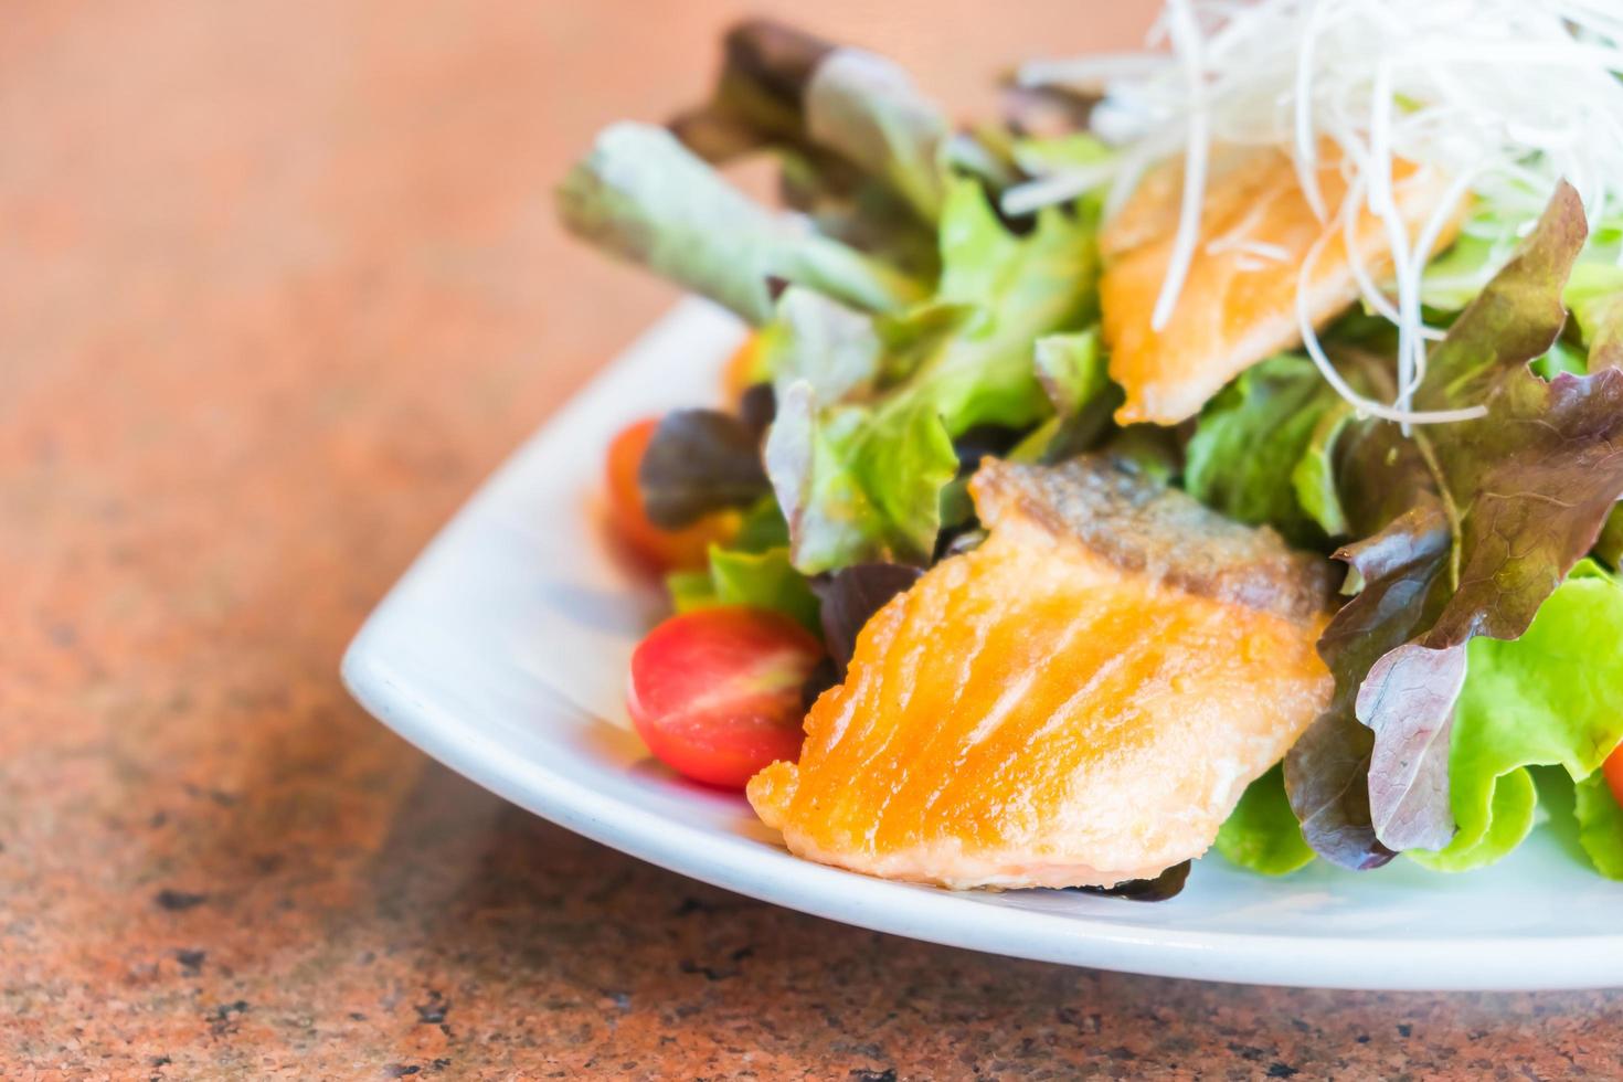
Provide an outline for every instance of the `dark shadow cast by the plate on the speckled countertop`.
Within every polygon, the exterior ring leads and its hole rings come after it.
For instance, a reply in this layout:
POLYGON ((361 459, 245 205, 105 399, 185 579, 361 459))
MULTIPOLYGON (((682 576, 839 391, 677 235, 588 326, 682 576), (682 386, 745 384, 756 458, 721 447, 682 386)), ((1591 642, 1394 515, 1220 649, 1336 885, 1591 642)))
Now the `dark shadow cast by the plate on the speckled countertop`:
POLYGON ((474 1022, 471 1038, 570 1033, 578 1067, 674 1038, 667 1066, 693 1074, 795 1063, 821 1077, 1143 1076, 1212 1056, 1272 1077, 1373 1072, 1391 1056, 1470 1071, 1526 1041, 1571 1043, 1576 1028, 1600 1040, 1623 1014, 1607 999, 1610 1019, 1597 1017, 1594 996, 1204 985, 914 942, 662 871, 437 764, 403 801, 373 886, 380 913, 420 933, 422 972, 454 983, 443 994, 474 1019, 506 1019, 485 1033, 474 1022))

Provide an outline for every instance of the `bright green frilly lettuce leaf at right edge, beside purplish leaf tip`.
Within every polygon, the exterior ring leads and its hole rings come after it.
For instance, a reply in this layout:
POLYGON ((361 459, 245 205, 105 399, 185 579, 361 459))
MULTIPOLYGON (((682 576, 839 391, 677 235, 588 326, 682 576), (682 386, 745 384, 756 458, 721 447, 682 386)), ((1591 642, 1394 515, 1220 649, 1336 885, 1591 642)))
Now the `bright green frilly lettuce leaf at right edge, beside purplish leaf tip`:
POLYGON ((1560 766, 1581 782, 1623 743, 1623 584, 1581 563, 1526 634, 1477 638, 1467 654, 1449 748, 1459 831, 1440 852, 1409 852, 1443 871, 1493 863, 1532 829, 1526 767, 1560 766))

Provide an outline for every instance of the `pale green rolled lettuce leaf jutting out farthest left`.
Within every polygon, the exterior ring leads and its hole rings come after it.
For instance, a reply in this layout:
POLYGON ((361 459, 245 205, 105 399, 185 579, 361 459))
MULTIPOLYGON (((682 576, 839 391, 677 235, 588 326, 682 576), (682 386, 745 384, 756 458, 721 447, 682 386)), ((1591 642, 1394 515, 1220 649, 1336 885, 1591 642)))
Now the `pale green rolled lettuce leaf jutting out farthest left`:
POLYGON ((579 237, 750 323, 771 318, 774 279, 873 311, 907 307, 925 292, 894 268, 753 203, 664 128, 604 130, 557 196, 563 224, 579 237))

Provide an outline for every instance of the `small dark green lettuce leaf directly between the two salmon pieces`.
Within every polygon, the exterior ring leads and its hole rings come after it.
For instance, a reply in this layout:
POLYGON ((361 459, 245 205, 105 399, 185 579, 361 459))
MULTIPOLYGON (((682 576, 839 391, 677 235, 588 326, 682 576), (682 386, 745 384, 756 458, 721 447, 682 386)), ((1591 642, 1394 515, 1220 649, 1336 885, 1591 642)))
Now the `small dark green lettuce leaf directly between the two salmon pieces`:
POLYGON ((1311 360, 1271 357, 1201 410, 1185 448, 1183 487, 1232 519, 1319 545, 1345 529, 1329 464, 1350 417, 1342 407, 1311 360))

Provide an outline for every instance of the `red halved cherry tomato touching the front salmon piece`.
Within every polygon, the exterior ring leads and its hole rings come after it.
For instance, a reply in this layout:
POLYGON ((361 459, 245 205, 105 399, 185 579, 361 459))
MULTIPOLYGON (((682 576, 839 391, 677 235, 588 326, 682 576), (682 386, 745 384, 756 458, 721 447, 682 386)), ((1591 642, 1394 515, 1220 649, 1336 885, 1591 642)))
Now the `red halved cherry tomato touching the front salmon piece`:
POLYGON ((823 644, 787 616, 724 605, 672 616, 631 654, 626 707, 654 756, 696 782, 743 788, 800 754, 800 686, 823 644))

